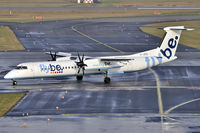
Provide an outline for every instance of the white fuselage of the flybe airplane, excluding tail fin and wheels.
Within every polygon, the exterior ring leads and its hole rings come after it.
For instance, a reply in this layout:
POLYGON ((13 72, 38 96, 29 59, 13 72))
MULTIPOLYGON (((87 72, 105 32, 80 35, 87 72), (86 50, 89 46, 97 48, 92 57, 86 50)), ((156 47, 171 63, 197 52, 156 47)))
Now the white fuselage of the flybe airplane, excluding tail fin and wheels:
MULTIPOLYGON (((156 49, 155 49, 156 50, 156 49)), ((149 51, 150 52, 150 51, 149 51)), ((133 60, 127 61, 100 61, 99 59, 85 60, 85 74, 102 74, 105 71, 109 73, 124 73, 131 71, 143 70, 158 64, 168 62, 169 60, 163 60, 156 56, 148 56, 148 53, 142 53, 142 55, 129 55, 129 56, 110 56, 109 58, 116 57, 133 57, 133 60), (120 67, 115 67, 120 66, 120 67), (110 67, 110 69, 108 69, 110 67)), ((108 58, 108 57, 102 57, 108 58)), ((30 62, 22 63, 18 65, 18 69, 10 71, 4 78, 5 79, 30 79, 30 78, 54 78, 54 77, 66 77, 75 76, 78 74, 78 66, 74 60, 61 60, 61 61, 46 61, 46 62, 30 62), (22 66, 20 68, 20 66, 22 66), (25 66, 25 67, 23 67, 25 66)))

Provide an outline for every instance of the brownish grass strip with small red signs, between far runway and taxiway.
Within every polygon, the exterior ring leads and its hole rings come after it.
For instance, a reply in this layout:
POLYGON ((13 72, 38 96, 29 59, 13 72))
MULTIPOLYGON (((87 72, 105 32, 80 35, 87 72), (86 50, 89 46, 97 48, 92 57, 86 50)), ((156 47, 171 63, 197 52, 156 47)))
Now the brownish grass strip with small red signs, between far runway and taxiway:
POLYGON ((0 22, 38 22, 50 20, 88 19, 165 15, 199 15, 199 10, 9 10, 0 11, 0 22), (34 19, 42 16, 43 19, 34 19))

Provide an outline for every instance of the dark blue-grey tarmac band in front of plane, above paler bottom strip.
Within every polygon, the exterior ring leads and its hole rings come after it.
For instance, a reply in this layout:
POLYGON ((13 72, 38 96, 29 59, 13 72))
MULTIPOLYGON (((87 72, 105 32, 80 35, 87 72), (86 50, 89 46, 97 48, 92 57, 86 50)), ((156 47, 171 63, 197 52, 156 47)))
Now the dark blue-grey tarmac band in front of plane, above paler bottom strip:
MULTIPOLYGON (((150 86, 152 87, 152 86, 150 86)), ((90 113, 159 113, 156 88, 97 87, 75 90, 43 89, 31 91, 7 116, 61 115, 90 113), (67 90, 67 94, 66 94, 67 90), (59 107, 57 110, 56 107, 59 107)), ((198 99, 199 88, 162 87, 163 109, 198 99)), ((172 110, 172 113, 200 114, 200 101, 172 110)))

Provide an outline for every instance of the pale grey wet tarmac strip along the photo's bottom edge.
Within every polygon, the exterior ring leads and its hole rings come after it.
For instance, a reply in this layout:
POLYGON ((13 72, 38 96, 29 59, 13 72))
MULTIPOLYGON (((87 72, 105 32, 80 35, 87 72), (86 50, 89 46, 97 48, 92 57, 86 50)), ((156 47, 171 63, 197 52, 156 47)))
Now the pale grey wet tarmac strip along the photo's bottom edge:
POLYGON ((155 114, 91 114, 91 115, 46 115, 29 117, 3 117, 0 119, 0 132, 83 132, 83 133, 121 133, 154 132, 154 133, 193 133, 199 132, 197 123, 199 116, 185 116, 178 114, 164 118, 161 124, 160 117, 155 114), (177 121, 173 121, 177 118, 177 121), (189 118, 189 119, 188 119, 189 118), (49 121, 47 121, 49 119, 49 121), (9 125, 9 126, 8 126, 9 125), (26 126, 24 128, 24 125, 26 126))

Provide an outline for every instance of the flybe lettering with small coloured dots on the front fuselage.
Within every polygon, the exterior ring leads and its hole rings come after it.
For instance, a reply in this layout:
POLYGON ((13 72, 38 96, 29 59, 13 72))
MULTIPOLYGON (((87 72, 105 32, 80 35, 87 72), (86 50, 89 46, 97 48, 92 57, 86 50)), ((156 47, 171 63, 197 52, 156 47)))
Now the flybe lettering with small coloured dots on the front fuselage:
POLYGON ((61 65, 44 65, 40 64, 40 71, 45 73, 51 73, 51 74, 58 74, 63 73, 64 67, 61 67, 61 65))

